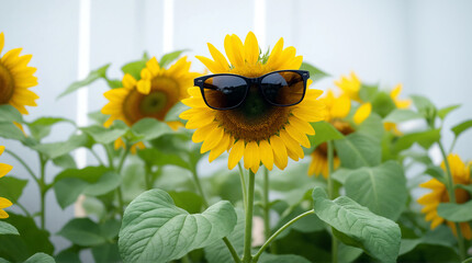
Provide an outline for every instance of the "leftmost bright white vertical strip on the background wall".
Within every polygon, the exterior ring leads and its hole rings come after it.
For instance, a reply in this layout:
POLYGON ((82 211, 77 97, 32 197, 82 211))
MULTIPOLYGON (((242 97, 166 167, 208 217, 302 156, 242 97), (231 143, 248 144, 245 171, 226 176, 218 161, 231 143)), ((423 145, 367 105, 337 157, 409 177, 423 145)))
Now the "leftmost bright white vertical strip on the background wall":
MULTIPOLYGON (((79 5, 79 46, 78 46, 77 77, 83 79, 90 71, 90 0, 80 0, 79 5)), ((88 87, 77 92, 77 125, 87 125, 88 113, 88 87)), ((76 162, 78 168, 87 165, 86 149, 76 151, 76 162)))

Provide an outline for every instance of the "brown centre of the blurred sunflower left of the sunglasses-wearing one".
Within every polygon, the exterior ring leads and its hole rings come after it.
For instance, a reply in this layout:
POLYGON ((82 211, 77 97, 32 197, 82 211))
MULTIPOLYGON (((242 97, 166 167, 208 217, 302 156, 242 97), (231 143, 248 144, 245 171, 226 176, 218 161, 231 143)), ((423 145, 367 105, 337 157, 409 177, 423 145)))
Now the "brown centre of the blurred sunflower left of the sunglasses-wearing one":
POLYGON ((131 124, 145 117, 164 121, 169 110, 179 102, 179 84, 166 77, 156 77, 150 82, 150 92, 145 95, 132 90, 123 102, 123 113, 131 124))

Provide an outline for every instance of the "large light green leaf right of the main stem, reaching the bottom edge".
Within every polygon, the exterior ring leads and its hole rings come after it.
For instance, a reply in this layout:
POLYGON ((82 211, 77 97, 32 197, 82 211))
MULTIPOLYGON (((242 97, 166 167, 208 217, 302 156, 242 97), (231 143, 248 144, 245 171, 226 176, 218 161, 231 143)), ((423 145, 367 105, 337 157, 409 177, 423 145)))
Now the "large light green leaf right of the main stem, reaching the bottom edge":
POLYGON ((334 201, 321 187, 313 190, 315 214, 330 225, 338 238, 361 248, 382 262, 395 262, 400 251, 400 227, 392 220, 371 213, 347 196, 334 201))

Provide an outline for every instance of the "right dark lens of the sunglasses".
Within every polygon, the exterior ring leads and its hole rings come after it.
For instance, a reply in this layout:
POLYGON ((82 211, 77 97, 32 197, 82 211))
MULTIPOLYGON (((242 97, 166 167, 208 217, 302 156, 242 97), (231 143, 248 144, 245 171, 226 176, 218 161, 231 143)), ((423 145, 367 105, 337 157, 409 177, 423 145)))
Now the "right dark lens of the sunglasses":
POLYGON ((273 104, 286 106, 301 102, 305 93, 303 77, 293 71, 279 71, 261 80, 263 95, 273 104))

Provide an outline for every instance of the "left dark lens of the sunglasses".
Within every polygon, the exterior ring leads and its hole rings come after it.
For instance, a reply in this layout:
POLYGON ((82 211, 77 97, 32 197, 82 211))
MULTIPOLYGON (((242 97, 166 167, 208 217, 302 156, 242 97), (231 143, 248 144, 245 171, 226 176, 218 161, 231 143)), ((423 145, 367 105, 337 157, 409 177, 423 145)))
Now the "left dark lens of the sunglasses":
POLYGON ((244 100, 246 91, 246 81, 236 76, 215 76, 203 83, 206 103, 220 110, 237 106, 244 100))

